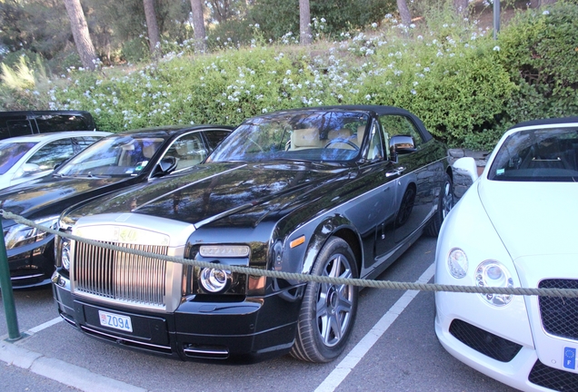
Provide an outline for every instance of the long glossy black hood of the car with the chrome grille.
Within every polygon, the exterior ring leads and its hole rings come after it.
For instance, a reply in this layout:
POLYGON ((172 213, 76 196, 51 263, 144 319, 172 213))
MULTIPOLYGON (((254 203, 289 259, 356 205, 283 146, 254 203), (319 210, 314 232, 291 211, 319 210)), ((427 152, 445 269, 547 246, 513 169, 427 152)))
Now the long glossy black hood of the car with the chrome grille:
POLYGON ((306 163, 212 163, 185 174, 137 185, 96 200, 67 218, 96 213, 135 212, 214 226, 254 226, 274 212, 287 211, 323 196, 320 187, 337 187, 348 171, 306 163))

